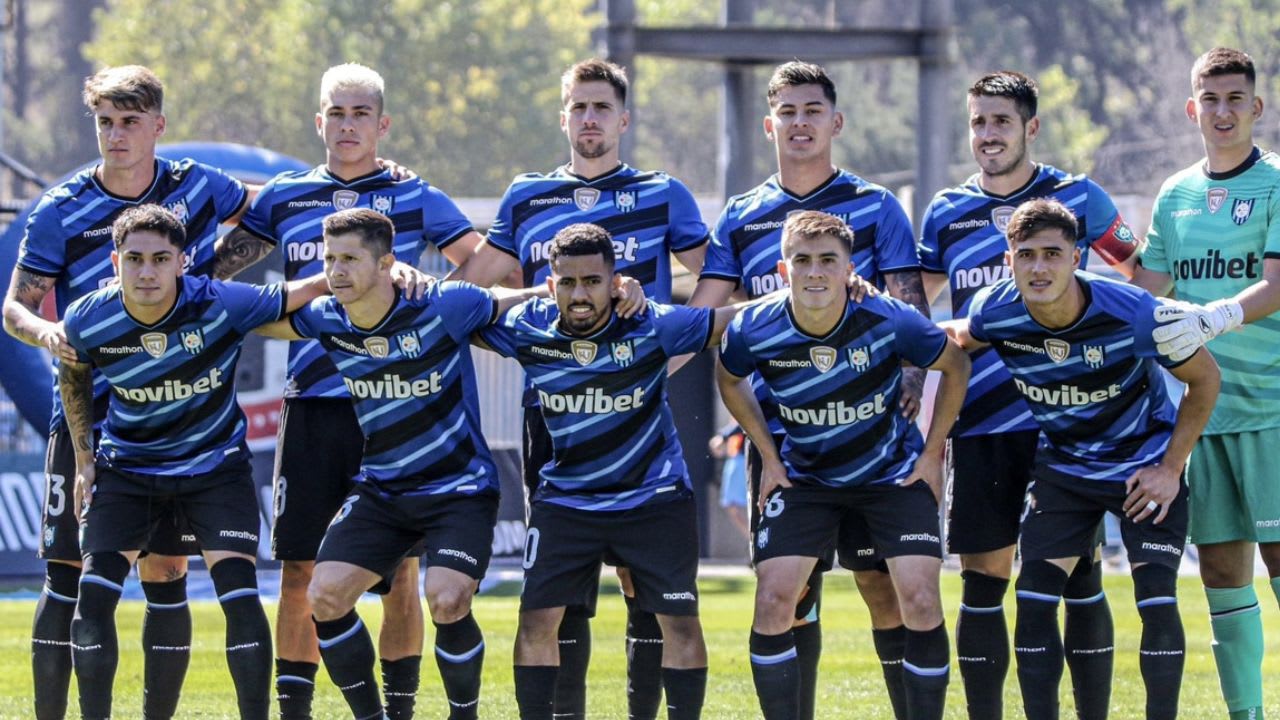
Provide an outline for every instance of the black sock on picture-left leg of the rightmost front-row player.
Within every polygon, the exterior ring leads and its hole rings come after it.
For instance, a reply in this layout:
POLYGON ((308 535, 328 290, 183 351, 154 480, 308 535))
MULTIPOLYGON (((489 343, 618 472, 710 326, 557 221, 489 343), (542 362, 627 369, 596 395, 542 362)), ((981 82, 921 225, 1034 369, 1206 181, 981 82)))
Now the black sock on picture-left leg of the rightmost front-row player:
POLYGON ((1014 655, 1027 720, 1057 720, 1057 688, 1062 682, 1057 603, 1065 585, 1066 573, 1043 560, 1023 564, 1018 577, 1014 655))

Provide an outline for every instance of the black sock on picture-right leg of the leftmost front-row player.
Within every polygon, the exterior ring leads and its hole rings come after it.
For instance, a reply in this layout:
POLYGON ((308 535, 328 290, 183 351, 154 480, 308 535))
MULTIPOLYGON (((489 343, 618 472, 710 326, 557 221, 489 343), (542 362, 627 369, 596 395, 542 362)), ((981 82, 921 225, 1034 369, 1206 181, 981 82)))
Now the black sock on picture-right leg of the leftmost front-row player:
POLYGON ((236 685, 241 719, 271 711, 271 625, 257 596, 257 571, 244 557, 228 557, 209 569, 227 616, 227 667, 236 685))

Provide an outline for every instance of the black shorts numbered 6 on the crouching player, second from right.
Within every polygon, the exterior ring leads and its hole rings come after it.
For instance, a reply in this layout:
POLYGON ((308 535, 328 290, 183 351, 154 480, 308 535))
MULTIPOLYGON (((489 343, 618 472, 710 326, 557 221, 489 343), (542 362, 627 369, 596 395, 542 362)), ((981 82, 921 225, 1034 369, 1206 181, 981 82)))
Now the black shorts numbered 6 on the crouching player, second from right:
POLYGON ((795 486, 773 491, 755 534, 755 561, 822 557, 850 516, 860 518, 881 557, 942 557, 938 503, 924 482, 831 488, 795 486))

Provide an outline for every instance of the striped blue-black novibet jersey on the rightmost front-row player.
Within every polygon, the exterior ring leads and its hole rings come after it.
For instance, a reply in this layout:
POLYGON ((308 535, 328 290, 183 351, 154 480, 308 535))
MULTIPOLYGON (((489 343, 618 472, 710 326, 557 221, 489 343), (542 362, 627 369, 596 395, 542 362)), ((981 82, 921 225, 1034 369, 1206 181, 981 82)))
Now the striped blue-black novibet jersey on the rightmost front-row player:
POLYGON ((1068 328, 1032 318, 1014 281, 980 291, 969 333, 991 343, 1041 428, 1037 461, 1089 480, 1124 482, 1160 462, 1176 409, 1151 333, 1160 301, 1138 287, 1078 270, 1085 309, 1068 328))

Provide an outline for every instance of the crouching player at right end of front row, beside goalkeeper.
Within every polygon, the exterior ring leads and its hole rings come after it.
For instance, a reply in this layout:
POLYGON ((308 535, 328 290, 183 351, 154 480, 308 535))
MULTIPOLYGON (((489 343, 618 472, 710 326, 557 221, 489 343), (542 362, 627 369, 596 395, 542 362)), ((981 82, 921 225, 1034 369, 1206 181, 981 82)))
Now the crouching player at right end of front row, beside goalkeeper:
POLYGON ((995 350, 1042 433, 1016 583, 1023 707, 1028 720, 1059 716, 1059 600, 1110 511, 1120 515, 1142 616, 1146 717, 1176 717, 1187 646, 1178 612, 1188 516, 1181 477, 1217 398, 1217 365, 1203 350, 1183 360, 1161 354, 1152 338, 1160 302, 1079 270, 1078 219, 1062 202, 1019 205, 1005 234, 1014 277, 973 299, 956 336, 966 348, 995 350), (1160 366, 1187 383, 1176 410, 1160 366))

